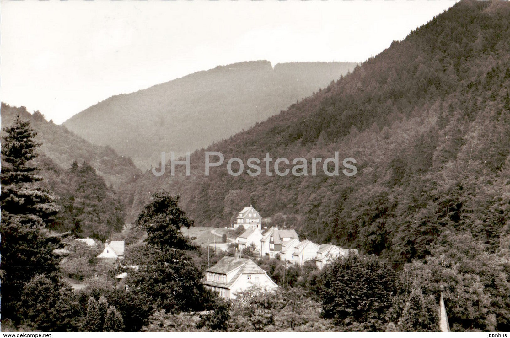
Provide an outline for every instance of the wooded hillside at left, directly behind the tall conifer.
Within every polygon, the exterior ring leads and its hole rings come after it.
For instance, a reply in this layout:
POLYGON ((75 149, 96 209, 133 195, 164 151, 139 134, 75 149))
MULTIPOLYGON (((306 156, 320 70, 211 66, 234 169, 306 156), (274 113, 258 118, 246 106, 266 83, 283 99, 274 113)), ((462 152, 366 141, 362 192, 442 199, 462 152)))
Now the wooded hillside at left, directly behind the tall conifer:
MULTIPOLYGON (((66 127, 46 121, 40 112, 30 114, 24 107, 3 102, 1 112, 3 128, 19 115, 37 133, 35 140, 41 148, 34 162, 59 211, 48 222, 50 229, 101 241, 122 229, 122 199, 129 198, 121 197, 122 189, 141 175, 130 158, 119 156, 112 148, 90 144, 66 127)), ((5 134, 2 129, 2 136, 5 134)))

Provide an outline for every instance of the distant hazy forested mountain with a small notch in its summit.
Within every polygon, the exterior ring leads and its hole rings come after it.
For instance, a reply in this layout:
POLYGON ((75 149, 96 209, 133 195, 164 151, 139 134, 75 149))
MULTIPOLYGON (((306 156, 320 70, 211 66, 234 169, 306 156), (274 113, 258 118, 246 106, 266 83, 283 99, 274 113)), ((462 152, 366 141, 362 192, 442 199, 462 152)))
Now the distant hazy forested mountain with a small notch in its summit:
POLYGON ((98 102, 64 122, 94 144, 109 145, 142 169, 161 151, 186 151, 263 121, 352 70, 349 62, 218 66, 98 102))

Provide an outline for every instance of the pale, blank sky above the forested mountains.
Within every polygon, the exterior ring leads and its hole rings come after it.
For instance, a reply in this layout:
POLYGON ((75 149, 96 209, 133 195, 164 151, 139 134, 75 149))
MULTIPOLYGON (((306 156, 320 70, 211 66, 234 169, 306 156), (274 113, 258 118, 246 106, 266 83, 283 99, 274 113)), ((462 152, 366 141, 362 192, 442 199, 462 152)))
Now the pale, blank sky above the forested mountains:
POLYGON ((362 62, 455 0, 0 2, 0 100, 62 123, 112 95, 249 60, 362 62))

